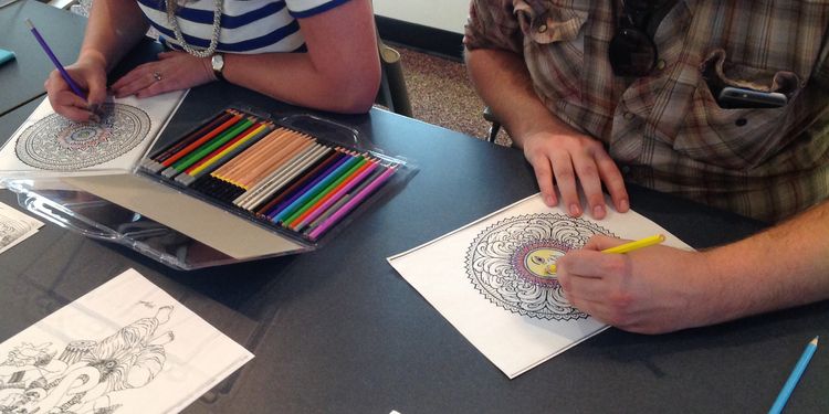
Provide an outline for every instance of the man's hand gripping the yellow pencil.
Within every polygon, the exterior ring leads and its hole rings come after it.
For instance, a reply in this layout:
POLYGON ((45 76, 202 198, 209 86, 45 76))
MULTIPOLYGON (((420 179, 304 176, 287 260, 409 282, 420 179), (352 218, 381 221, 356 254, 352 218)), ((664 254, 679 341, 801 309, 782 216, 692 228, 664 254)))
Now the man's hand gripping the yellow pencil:
POLYGON ((716 284, 704 253, 650 246, 627 254, 600 251, 625 243, 594 236, 557 262, 558 282, 576 308, 617 328, 661 333, 714 322, 707 304, 716 284), (713 277, 709 277, 713 278, 713 277))

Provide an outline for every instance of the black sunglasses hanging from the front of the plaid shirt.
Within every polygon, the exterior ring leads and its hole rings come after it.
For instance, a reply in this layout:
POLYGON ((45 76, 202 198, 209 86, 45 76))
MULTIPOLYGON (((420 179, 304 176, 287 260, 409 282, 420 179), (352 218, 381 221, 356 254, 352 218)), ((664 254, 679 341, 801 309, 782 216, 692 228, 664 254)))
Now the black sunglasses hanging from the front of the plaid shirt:
POLYGON ((659 56, 653 33, 676 2, 621 0, 622 11, 617 13, 617 1, 610 1, 617 20, 608 49, 610 67, 617 76, 644 76, 657 66, 659 56))

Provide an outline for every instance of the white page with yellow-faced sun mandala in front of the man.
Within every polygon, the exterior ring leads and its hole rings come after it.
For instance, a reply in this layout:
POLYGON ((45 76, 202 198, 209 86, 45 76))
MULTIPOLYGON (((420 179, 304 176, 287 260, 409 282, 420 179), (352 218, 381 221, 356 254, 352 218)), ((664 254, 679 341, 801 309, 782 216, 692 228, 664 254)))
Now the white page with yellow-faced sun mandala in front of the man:
POLYGON ((513 379, 607 326, 570 306, 547 267, 595 234, 663 234, 633 211, 570 217, 536 194, 408 252, 391 266, 472 344, 513 379))

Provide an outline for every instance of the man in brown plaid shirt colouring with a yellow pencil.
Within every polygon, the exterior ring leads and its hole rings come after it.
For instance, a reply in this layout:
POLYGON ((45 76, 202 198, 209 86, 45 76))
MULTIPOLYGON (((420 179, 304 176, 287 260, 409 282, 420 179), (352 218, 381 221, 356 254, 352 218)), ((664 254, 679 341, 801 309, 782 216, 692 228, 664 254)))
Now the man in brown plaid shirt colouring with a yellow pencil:
POLYGON ((829 298, 828 26, 817 0, 472 0, 470 76, 547 204, 602 219, 604 187, 626 212, 628 181, 789 219, 700 253, 597 237, 559 262, 575 306, 662 332, 829 298))

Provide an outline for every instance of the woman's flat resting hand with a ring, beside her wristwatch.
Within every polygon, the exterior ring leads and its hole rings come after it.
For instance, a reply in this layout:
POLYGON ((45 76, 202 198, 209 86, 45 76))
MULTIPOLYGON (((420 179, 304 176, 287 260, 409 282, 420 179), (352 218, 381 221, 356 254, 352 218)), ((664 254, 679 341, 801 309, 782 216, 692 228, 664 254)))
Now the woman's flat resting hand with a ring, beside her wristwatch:
POLYGON ((158 61, 141 64, 112 85, 116 97, 145 98, 170 91, 187 89, 216 81, 209 57, 186 52, 162 52, 158 61))

